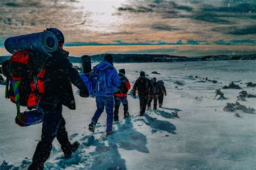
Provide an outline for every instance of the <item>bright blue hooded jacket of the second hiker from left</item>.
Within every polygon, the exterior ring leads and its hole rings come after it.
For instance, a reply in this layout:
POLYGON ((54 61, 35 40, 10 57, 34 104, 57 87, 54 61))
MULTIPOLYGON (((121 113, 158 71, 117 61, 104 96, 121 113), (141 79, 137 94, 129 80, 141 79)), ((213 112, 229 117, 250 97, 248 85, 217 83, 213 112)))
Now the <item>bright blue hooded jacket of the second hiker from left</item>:
POLYGON ((99 70, 103 71, 105 73, 106 77, 106 91, 99 91, 95 96, 110 96, 114 93, 114 87, 119 87, 121 84, 120 77, 117 73, 116 68, 114 68, 111 63, 107 61, 102 61, 95 67, 93 67, 93 70, 99 70))

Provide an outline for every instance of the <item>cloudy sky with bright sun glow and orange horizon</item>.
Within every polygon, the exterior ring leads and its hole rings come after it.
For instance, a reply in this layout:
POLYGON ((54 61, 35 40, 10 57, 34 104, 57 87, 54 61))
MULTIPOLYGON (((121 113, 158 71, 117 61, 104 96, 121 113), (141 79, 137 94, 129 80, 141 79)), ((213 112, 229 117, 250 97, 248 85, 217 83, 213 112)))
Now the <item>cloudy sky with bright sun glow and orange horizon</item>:
POLYGON ((256 53, 255 0, 1 0, 4 40, 57 27, 70 55, 256 53))

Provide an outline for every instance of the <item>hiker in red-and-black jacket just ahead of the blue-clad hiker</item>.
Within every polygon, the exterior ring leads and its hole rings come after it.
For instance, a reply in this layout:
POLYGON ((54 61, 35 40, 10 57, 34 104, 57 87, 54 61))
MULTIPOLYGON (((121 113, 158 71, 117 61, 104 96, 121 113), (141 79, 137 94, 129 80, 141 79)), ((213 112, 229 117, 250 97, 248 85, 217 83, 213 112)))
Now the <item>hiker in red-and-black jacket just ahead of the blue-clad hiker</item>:
POLYGON ((128 112, 128 101, 127 101, 127 92, 131 88, 129 80, 125 76, 125 69, 120 69, 119 74, 121 85, 118 88, 115 88, 114 92, 114 121, 118 121, 118 112, 120 104, 123 103, 124 106, 124 117, 129 116, 128 112))

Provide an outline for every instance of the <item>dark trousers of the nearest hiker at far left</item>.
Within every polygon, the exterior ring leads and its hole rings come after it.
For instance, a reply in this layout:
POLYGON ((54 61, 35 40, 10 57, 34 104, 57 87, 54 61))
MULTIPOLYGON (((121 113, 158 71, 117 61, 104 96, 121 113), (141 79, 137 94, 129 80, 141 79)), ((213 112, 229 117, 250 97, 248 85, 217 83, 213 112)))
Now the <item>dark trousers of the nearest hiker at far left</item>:
MULTIPOLYGON (((55 98, 55 97, 52 97, 55 98)), ((44 162, 50 157, 52 141, 57 137, 63 152, 71 146, 62 116, 62 104, 57 100, 49 100, 38 105, 38 111, 43 114, 41 141, 37 144, 29 169, 42 169, 44 162)))

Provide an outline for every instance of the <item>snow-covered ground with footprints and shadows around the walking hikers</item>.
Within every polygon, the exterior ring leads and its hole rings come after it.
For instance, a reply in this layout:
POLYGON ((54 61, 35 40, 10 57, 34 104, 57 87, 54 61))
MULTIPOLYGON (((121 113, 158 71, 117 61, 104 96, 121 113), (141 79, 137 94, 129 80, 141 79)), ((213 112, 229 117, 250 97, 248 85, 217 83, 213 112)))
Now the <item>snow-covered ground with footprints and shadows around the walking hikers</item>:
MULTIPOLYGON (((239 118, 234 112, 223 111, 227 102, 235 103, 241 90, 221 89, 228 99, 213 100, 215 90, 231 81, 249 94, 256 94, 255 88, 247 88, 245 84, 256 83, 255 65, 256 61, 116 64, 117 69, 126 69, 132 85, 139 76, 136 70, 164 80, 167 90, 164 108, 138 117, 138 98, 129 96, 131 118, 120 118, 113 125, 116 133, 105 137, 106 114, 100 117, 96 132, 89 132, 87 126, 96 110, 95 98, 80 98, 74 88, 77 110, 65 108, 63 115, 70 139, 80 143, 79 150, 64 159, 55 140, 45 168, 255 169, 256 115, 239 110, 239 118), (153 71, 161 75, 151 74, 153 71), (190 75, 208 77, 218 83, 190 75), (176 81, 184 85, 174 84, 176 81)), ((0 161, 9 162, 8 168, 26 169, 40 139, 42 124, 19 127, 14 122, 15 105, 3 97, 3 86, 0 96, 0 161)), ((256 109, 256 98, 246 100, 240 103, 256 109)))

